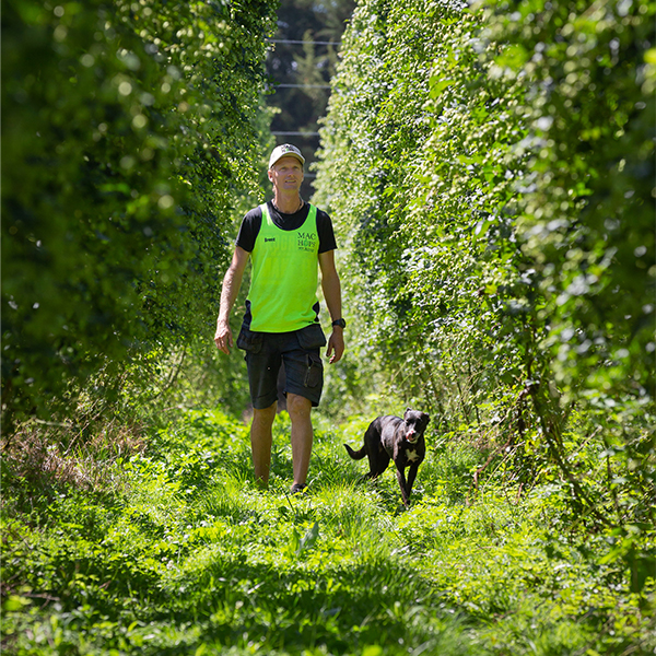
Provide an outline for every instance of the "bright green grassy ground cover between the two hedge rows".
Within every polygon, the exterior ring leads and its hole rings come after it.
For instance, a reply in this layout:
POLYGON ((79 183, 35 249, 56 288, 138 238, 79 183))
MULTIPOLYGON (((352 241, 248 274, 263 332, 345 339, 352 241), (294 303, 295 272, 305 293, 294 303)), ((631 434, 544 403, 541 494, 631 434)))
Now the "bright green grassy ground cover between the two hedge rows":
POLYGON ((2 652, 654 653, 653 582, 630 591, 558 484, 472 491, 487 454, 433 438, 406 512, 396 477, 361 483, 341 446, 365 424, 318 418, 295 496, 284 413, 268 491, 218 411, 181 413, 91 485, 4 458, 2 652))

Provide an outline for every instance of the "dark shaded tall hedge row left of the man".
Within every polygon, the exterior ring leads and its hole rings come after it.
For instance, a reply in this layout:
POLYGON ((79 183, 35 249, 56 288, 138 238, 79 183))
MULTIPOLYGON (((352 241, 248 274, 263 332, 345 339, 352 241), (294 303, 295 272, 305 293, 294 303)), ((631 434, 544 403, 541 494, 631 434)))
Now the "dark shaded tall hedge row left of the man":
POLYGON ((5 430, 211 340, 226 226, 257 190, 272 9, 5 3, 5 430))

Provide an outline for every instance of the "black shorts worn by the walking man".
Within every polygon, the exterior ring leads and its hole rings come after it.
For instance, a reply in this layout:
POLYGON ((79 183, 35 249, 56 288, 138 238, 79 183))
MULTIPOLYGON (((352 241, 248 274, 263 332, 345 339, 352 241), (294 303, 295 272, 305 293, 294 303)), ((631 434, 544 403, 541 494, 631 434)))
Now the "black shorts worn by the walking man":
POLYGON ((242 326, 237 347, 246 351, 250 401, 257 410, 278 399, 278 372, 284 363, 284 394, 296 394, 319 405, 324 363, 319 350, 326 336, 318 324, 293 332, 254 332, 242 326))

